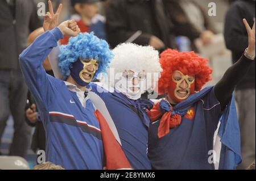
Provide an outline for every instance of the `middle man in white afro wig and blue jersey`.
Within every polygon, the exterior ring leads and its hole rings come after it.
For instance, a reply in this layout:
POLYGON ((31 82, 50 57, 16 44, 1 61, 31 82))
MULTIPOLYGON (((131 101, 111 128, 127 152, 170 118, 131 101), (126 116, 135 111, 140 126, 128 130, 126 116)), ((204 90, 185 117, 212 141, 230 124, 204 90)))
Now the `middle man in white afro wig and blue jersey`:
POLYGON ((153 103, 142 100, 141 95, 154 89, 162 70, 159 53, 154 48, 136 44, 120 44, 113 49, 108 83, 90 83, 90 99, 104 117, 122 146, 133 169, 148 170, 151 164, 147 155, 147 110, 153 103), (155 76, 154 76, 155 75, 155 76))

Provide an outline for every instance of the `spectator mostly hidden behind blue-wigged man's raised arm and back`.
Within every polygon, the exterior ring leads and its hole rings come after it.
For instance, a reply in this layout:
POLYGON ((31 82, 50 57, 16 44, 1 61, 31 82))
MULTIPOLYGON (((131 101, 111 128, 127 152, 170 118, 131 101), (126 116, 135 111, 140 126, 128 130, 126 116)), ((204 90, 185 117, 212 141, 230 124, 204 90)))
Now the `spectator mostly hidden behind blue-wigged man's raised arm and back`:
MULTIPOLYGON (((44 33, 43 27, 40 27, 30 33, 28 36, 28 46, 33 43, 36 37, 44 33)), ((53 75, 51 64, 48 57, 43 63, 43 67, 46 73, 53 75)), ((46 132, 44 131, 42 120, 40 119, 39 112, 37 111, 35 100, 32 97, 30 91, 28 91, 27 107, 26 107, 26 121, 31 127, 35 127, 35 132, 32 137, 31 149, 36 152, 36 150, 46 150, 46 132)))

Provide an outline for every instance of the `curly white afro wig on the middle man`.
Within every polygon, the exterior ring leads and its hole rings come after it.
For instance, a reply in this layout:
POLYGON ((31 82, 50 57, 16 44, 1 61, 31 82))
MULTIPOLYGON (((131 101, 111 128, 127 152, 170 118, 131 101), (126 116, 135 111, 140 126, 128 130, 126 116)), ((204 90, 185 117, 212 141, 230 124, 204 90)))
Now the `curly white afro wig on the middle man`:
MULTIPOLYGON (((125 70, 133 70, 137 73, 146 73, 146 90, 155 89, 156 82, 162 71, 159 62, 159 53, 151 46, 143 47, 133 43, 119 44, 113 49, 114 58, 109 68, 114 70, 115 74, 123 73, 125 70)), ((110 71, 108 70, 109 78, 110 71)), ((118 79, 110 79, 109 83, 114 87, 118 79)))

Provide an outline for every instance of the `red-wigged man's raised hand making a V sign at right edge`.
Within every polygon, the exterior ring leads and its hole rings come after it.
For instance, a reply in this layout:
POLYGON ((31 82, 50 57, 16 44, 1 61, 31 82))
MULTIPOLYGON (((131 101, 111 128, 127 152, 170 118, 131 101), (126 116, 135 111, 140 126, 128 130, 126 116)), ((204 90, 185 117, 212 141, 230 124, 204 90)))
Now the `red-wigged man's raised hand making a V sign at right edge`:
POLYGON ((253 28, 249 26, 246 19, 243 19, 243 23, 245 24, 247 33, 248 33, 248 53, 251 55, 255 55, 255 22, 253 24, 253 28))

